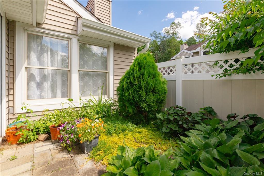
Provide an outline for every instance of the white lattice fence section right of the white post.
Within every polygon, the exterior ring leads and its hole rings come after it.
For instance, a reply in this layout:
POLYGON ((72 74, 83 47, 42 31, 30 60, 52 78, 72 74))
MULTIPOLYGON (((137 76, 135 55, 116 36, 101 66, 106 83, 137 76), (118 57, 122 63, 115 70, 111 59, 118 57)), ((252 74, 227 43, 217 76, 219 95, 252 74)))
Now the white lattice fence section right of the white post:
POLYGON ((231 69, 245 58, 227 59, 221 61, 200 62, 182 65, 183 74, 221 73, 224 69, 231 69))

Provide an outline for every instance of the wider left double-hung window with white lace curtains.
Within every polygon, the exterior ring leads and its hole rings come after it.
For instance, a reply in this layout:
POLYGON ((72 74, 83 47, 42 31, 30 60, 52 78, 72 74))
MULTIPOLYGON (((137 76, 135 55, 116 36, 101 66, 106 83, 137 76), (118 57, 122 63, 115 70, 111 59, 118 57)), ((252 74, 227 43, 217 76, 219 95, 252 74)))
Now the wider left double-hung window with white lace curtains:
POLYGON ((69 97, 69 40, 27 33, 27 100, 69 97))

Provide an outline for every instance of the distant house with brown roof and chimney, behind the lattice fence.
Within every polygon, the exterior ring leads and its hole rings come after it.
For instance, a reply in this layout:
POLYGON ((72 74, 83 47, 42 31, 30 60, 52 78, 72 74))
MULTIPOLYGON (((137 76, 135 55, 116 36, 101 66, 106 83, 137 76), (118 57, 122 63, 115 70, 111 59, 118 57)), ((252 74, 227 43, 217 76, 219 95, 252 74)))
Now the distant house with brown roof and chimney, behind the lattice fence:
POLYGON ((204 44, 206 44, 205 41, 191 46, 188 46, 187 44, 183 44, 180 46, 180 52, 177 53, 175 56, 173 56, 171 60, 174 60, 178 56, 184 56, 185 58, 188 58, 188 57, 195 57, 200 55, 207 55, 208 50, 203 49, 204 44))

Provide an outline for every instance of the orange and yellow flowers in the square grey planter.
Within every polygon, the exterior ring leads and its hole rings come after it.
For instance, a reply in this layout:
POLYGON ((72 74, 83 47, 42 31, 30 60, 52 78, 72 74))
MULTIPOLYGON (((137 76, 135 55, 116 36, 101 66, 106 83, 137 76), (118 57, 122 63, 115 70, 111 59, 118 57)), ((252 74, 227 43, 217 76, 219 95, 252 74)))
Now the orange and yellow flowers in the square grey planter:
POLYGON ((100 135, 105 131, 105 126, 101 118, 95 120, 88 118, 82 119, 81 123, 77 124, 80 143, 92 141, 96 135, 100 135))

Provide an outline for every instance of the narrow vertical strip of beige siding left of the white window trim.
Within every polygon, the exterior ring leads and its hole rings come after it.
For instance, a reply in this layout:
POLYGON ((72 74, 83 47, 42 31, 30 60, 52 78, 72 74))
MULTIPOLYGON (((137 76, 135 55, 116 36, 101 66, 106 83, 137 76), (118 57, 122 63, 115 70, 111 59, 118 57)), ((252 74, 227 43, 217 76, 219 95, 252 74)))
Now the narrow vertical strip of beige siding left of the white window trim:
POLYGON ((6 18, 6 124, 14 107, 15 26, 15 21, 6 18))

